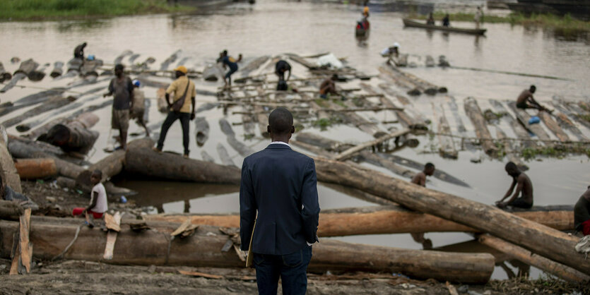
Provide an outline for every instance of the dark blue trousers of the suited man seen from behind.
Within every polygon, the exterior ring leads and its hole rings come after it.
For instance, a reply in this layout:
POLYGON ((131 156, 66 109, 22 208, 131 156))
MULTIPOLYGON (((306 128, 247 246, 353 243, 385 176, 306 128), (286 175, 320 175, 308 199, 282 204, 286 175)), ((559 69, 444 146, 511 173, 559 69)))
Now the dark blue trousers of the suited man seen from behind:
POLYGON ((307 291, 307 265, 312 260, 312 246, 285 255, 254 253, 258 294, 276 295, 281 277, 283 295, 303 295, 307 291))

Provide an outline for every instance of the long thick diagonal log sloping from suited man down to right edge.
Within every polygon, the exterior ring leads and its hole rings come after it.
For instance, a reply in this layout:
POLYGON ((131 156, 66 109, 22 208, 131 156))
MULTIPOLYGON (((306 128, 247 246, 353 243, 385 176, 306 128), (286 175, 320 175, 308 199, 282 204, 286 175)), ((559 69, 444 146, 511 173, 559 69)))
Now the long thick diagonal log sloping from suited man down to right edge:
POLYGON ((497 207, 432 191, 394 179, 358 165, 315 158, 318 181, 341 183, 387 198, 412 210, 466 224, 488 232, 534 253, 582 272, 590 272, 590 261, 574 249, 578 239, 536 222, 511 215, 497 207))

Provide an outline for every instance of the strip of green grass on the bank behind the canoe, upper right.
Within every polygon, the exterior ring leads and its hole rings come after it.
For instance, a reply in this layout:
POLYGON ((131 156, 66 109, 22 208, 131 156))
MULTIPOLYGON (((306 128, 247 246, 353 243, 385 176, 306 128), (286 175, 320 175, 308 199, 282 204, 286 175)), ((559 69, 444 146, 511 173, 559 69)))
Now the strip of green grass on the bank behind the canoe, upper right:
MULTIPOLYGON (((446 13, 437 11, 433 13, 437 23, 444 18, 446 13)), ((454 21, 473 22, 473 13, 449 13, 451 24, 454 21)), ((409 16, 419 20, 425 20, 427 16, 413 14, 409 16)), ((509 16, 483 16, 483 23, 511 23, 512 25, 536 25, 545 28, 562 30, 590 30, 590 21, 577 20, 570 15, 555 16, 553 14, 531 14, 525 16, 522 13, 510 13, 509 16)))

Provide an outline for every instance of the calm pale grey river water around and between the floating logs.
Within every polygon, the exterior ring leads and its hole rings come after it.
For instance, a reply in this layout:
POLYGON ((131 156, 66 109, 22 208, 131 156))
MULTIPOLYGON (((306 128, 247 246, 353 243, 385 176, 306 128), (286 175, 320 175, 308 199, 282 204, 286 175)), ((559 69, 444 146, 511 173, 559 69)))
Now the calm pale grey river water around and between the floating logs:
MULTIPOLYGON (((422 2, 419 2, 422 3, 422 2)), ((427 2, 425 2, 427 3, 427 2)), ((445 8, 473 8, 480 1, 447 1, 445 8)), ((420 4, 419 11, 432 9, 432 4, 420 4), (428 8, 430 7, 430 8, 428 8)), ((52 21, 26 23, 0 23, 0 61, 8 71, 14 71, 18 64, 11 64, 10 59, 18 56, 21 59, 33 58, 42 64, 54 61, 68 61, 76 44, 88 42, 86 54, 95 54, 112 63, 116 56, 126 49, 141 54, 137 61, 148 56, 157 60, 153 68, 167 56, 181 49, 180 59, 189 57, 187 66, 202 70, 203 66, 215 60, 218 52, 228 49, 230 55, 244 54, 250 61, 258 56, 293 52, 302 56, 320 52, 333 52, 336 56, 346 57, 349 66, 357 68, 369 75, 377 75, 377 68, 384 62, 379 52, 393 42, 401 44, 401 51, 411 54, 411 60, 418 64, 417 68, 408 68, 408 72, 449 89, 449 95, 456 97, 459 110, 462 111, 462 100, 465 97, 476 97, 482 109, 489 107, 487 99, 513 100, 521 90, 536 84, 536 97, 541 101, 550 101, 554 95, 567 100, 589 101, 590 91, 590 42, 587 35, 563 35, 554 30, 541 28, 524 28, 509 24, 485 24, 488 32, 485 37, 471 35, 445 34, 442 32, 426 32, 425 30, 403 28, 402 14, 396 9, 372 6, 370 21, 371 36, 366 42, 358 42, 353 35, 355 20, 360 16, 360 6, 346 4, 322 4, 292 1, 257 1, 254 6, 249 4, 232 4, 210 11, 196 14, 169 16, 134 16, 88 21, 52 21), (545 76, 557 76, 567 80, 550 80, 524 76, 509 76, 499 73, 483 73, 459 69, 425 68, 423 60, 426 54, 431 56, 445 55, 454 66, 471 68, 487 68, 499 71, 533 73, 545 76)), ((441 7, 441 6, 437 6, 441 7)), ((470 28, 473 23, 453 23, 459 27, 470 28)), ((126 61, 126 59, 124 59, 126 61)), ((172 64, 170 68, 175 66, 172 64)), ((305 76, 301 66, 294 65, 295 76, 305 76)), ((160 79, 169 82, 165 78, 160 79)), ((377 85, 381 80, 372 79, 377 85)), ((39 91, 35 88, 52 88, 64 86, 72 80, 50 80, 33 83, 28 80, 19 82, 28 88, 14 88, 0 94, 1 102, 13 101, 24 95, 39 91)), ((104 85, 107 80, 85 88, 84 91, 104 85)), ((219 83, 197 82, 197 87, 205 90, 216 90, 219 83)), ((148 97, 155 97, 155 88, 145 88, 148 97)), ((98 92, 101 93, 101 92, 98 92)), ((73 93, 75 94, 75 93, 73 93)), ((437 102, 442 96, 421 96, 413 99, 415 105, 424 114, 431 114, 431 102, 437 102)), ((101 99, 98 101, 100 102, 101 99)), ((216 97, 197 97, 199 104, 213 102, 216 97)), ((97 101, 97 100, 95 100, 97 101)), ((155 101, 152 103, 155 104, 155 101)), ((23 109, 24 112, 26 109, 23 109)), ((9 114, 5 119, 16 116, 20 112, 9 114)), ((103 148, 112 145, 112 136, 117 132, 110 131, 110 108, 96 112, 101 118, 93 129, 100 132, 95 148, 90 152, 90 162, 96 162, 107 155, 103 148)), ((448 114, 448 113, 447 113, 448 114)), ((54 114, 56 115, 56 114, 54 114)), ((235 164, 240 167, 243 157, 232 150, 221 133, 218 120, 226 117, 220 109, 212 109, 200 114, 206 116, 210 126, 210 138, 206 145, 198 148, 194 143, 191 131, 191 157, 201 159, 200 150, 206 150, 216 162, 220 159, 216 145, 223 143, 235 164)), ((389 112, 367 114, 379 120, 392 120, 395 116, 389 112)), ((473 127, 463 114, 468 132, 474 136, 473 127)), ((149 112, 150 123, 155 124, 164 119, 154 107, 149 112)), ((47 120, 50 118, 47 118, 47 120)), ((228 116, 230 122, 240 122, 240 116, 228 116)), ((450 119, 449 119, 450 120, 450 119)), ((149 125, 148 124, 148 125, 149 125)), ((451 122, 452 128, 454 123, 451 122)), ((130 132, 141 133, 136 124, 130 124, 130 132)), ((435 125, 431 126, 434 127, 435 125)), ((504 126, 506 127, 506 126, 504 126)), ((191 129, 194 125, 191 124, 191 129)), ((505 131, 506 128, 504 128, 505 131)), ((581 128, 586 136, 588 129, 581 128)), ((9 133, 18 133, 14 127, 8 128, 9 133)), ((235 126, 238 138, 243 139, 240 126, 235 126)), ((335 126, 329 132, 321 132, 317 128, 306 128, 306 131, 320 133, 322 136, 361 143, 370 140, 371 136, 348 126, 335 126)), ((453 130, 455 131, 455 130, 453 130)), ((492 131, 492 133, 494 133, 492 131)), ((452 193, 481 203, 491 204, 499 200, 507 190, 511 179, 504 171, 505 162, 483 157, 483 162, 473 164, 472 157, 480 157, 480 152, 461 151, 459 160, 442 159, 429 152, 432 138, 421 136, 420 146, 404 149, 397 155, 415 159, 418 162, 432 162, 437 168, 466 181, 471 188, 454 186, 437 179, 429 179, 427 186, 439 191, 452 193)), ((181 131, 179 124, 172 126, 168 133, 165 150, 182 152, 181 131)), ((256 136, 247 140, 255 150, 268 144, 268 140, 256 136)), ((590 184, 589 159, 585 156, 572 156, 565 159, 541 159, 529 162, 531 168, 526 173, 531 177, 535 187, 536 205, 574 204, 579 195, 590 184)), ((384 173, 389 171, 372 167, 384 173)), ((391 176, 398 177, 394 174, 391 176)), ((153 205, 153 212, 238 212, 239 204, 237 186, 202 185, 198 183, 174 183, 165 181, 122 180, 119 186, 132 188, 139 192, 131 197, 138 204, 153 205)), ((320 205, 324 209, 336 207, 359 207, 374 205, 364 200, 352 198, 334 186, 319 184, 320 205)), ((434 246, 444 246, 471 239, 467 234, 427 234, 434 246)), ((383 246, 403 248, 420 248, 408 234, 382 236, 350 236, 344 241, 370 243, 383 246)), ((532 272, 533 277, 538 271, 532 272)), ((502 279, 506 275, 496 271, 494 278, 502 279)))

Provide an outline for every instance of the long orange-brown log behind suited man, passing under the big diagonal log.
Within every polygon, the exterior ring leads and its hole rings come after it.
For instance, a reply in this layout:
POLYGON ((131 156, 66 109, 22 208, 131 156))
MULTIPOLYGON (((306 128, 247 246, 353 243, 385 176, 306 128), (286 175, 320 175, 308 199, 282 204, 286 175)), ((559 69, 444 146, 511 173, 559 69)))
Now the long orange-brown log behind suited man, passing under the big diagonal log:
MULTIPOLYGON (((514 211, 512 214, 544 224, 557 230, 574 229, 573 206, 533 207, 530 211, 514 211)), ((240 227, 240 215, 228 214, 162 214, 146 215, 147 220, 207 224, 216 227, 240 227)), ((397 205, 351 207, 322 210, 319 214, 317 234, 320 237, 354 236, 364 234, 403 234, 418 232, 466 231, 477 229, 451 222, 397 205)))

